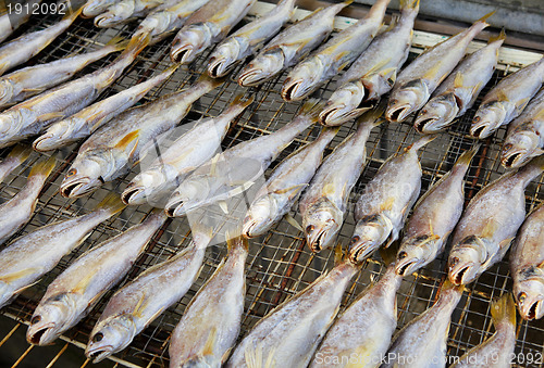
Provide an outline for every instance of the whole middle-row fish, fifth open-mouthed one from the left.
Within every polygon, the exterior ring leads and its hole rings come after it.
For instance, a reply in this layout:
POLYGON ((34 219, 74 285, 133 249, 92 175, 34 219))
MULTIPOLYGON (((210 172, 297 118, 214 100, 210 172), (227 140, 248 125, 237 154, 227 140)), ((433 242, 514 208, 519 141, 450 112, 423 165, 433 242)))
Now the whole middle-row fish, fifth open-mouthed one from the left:
POLYGON ((383 109, 364 115, 357 130, 324 160, 299 201, 306 242, 312 252, 329 248, 338 233, 347 200, 367 161, 370 131, 383 123, 383 109))

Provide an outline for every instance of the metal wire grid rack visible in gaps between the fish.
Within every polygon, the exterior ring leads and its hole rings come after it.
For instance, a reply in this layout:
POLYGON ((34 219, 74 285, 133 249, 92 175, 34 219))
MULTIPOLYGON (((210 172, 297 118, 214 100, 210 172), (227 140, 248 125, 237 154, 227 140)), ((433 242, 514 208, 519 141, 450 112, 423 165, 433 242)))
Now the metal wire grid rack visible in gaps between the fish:
MULTIPOLYGON (((26 33, 36 30, 58 21, 58 16, 50 15, 34 17, 28 24, 23 26, 26 33)), ((53 41, 44 52, 30 61, 30 63, 45 63, 57 60, 74 52, 83 52, 106 43, 113 36, 129 37, 137 23, 131 23, 113 29, 98 29, 88 20, 77 20, 72 27, 59 39, 53 41)), ((133 63, 124 75, 110 87, 102 97, 113 94, 141 80, 149 78, 170 64, 168 52, 171 39, 149 47, 141 52, 136 62, 133 63)), ((413 47, 417 52, 418 46, 413 47)), ((413 59, 416 53, 411 55, 413 59)), ((170 80, 153 89, 143 102, 153 100, 159 96, 170 93, 184 88, 194 83, 205 71, 209 53, 201 55, 194 64, 178 69, 170 80)), ((107 65, 113 60, 110 55, 99 62, 88 66, 81 75, 95 71, 107 65)), ((509 65, 503 65, 504 71, 497 72, 486 90, 497 83, 509 71, 509 65)), ((248 92, 239 87, 234 76, 239 72, 239 67, 234 71, 232 77, 221 87, 206 94, 197 102, 185 122, 197 119, 201 116, 218 115, 235 96, 248 92)), ((279 91, 285 74, 260 88, 249 90, 255 93, 255 103, 248 109, 231 128, 227 137, 223 141, 223 149, 232 147, 240 141, 251 139, 277 130, 281 126, 290 122, 300 107, 299 104, 286 104, 281 99, 279 91)), ((323 87, 318 93, 322 98, 327 98, 334 88, 334 80, 323 87)), ((486 91, 484 90, 484 92, 486 91)), ((482 92, 482 94, 484 93, 482 92)), ((478 102, 477 102, 478 105, 478 102)), ((421 164, 423 167, 422 192, 433 182, 438 180, 455 163, 457 157, 475 142, 467 134, 470 127, 470 118, 474 113, 472 109, 459 122, 457 122, 446 134, 443 134, 420 151, 421 164)), ((351 130, 354 124, 344 126, 334 138, 330 149, 339 143, 351 130)), ((307 129, 298 139, 290 144, 279 157, 277 162, 293 152, 297 147, 311 141, 319 134, 319 127, 307 129)), ((483 141, 479 154, 472 162, 471 169, 466 178, 467 201, 473 196, 483 186, 504 173, 499 165, 499 150, 506 129, 502 128, 493 137, 483 141)), ((398 152, 409 145, 418 138, 417 132, 410 124, 388 124, 382 125, 372 131, 367 143, 368 161, 367 166, 350 196, 350 208, 355 204, 357 193, 361 192, 380 165, 391 154, 398 152)), ((9 153, 9 149, 0 151, 0 157, 9 153)), ((73 144, 57 153, 60 163, 52 173, 44 188, 36 212, 28 225, 26 225, 13 238, 27 233, 37 227, 50 224, 59 219, 66 219, 75 215, 81 215, 90 211, 110 191, 121 192, 129 182, 135 173, 106 183, 92 195, 79 200, 67 200, 58 194, 59 186, 70 163, 77 152, 77 144, 73 144)), ((329 150, 330 152, 330 150, 329 150)), ((33 153, 21 167, 15 169, 0 185, 0 201, 10 199, 25 183, 26 176, 33 164, 39 158, 39 154, 33 153)), ((271 167, 277 163, 273 163, 271 167)), ((544 200, 544 177, 534 180, 526 191, 527 210, 533 208, 544 200)), ((47 285, 67 265, 87 249, 98 244, 112 236, 120 233, 132 225, 139 223, 149 212, 148 205, 132 206, 124 210, 119 216, 99 225, 86 240, 86 242, 62 258, 60 264, 47 274, 36 285, 25 290, 17 296, 11 305, 0 310, 4 317, 10 317, 15 322, 13 329, 0 331, 0 356, 4 355, 5 342, 15 339, 17 333, 23 333, 34 308, 44 294, 47 285)), ((299 218, 298 218, 299 219, 299 218)), ((338 240, 346 245, 353 233, 355 224, 351 212, 346 216, 338 240)), ((147 245, 143 254, 123 281, 100 301, 90 314, 75 328, 69 330, 62 337, 65 343, 60 342, 55 347, 32 347, 22 343, 18 359, 9 361, 9 365, 24 365, 29 355, 39 355, 48 348, 54 354, 50 363, 44 363, 47 367, 53 366, 71 345, 84 347, 87 343, 88 334, 100 316, 109 296, 121 285, 134 279, 144 269, 158 262, 172 256, 190 241, 190 230, 187 219, 171 219, 157 232, 151 242, 147 245)), ((187 294, 174 306, 163 313, 150 327, 145 329, 135 338, 133 343, 125 351, 113 357, 114 363, 107 360, 101 366, 145 366, 163 367, 168 366, 168 343, 170 334, 180 320, 184 308, 198 291, 200 285, 214 271, 222 257, 226 254, 223 244, 213 245, 208 249, 206 259, 197 281, 193 284, 187 294)), ((398 328, 401 328, 410 319, 422 313, 433 304, 441 282, 445 279, 446 255, 441 255, 436 261, 420 270, 418 274, 405 278, 398 292, 398 328)), ((475 282, 467 287, 461 302, 458 304, 452 318, 452 326, 448 339, 448 354, 462 355, 468 348, 481 343, 493 333, 490 313, 490 301, 498 297, 504 292, 511 290, 511 278, 509 277, 508 254, 505 259, 484 275, 475 282)), ((320 254, 312 254, 305 245, 302 234, 282 221, 275 226, 268 234, 250 241, 249 257, 247 259, 247 294, 245 314, 243 317, 242 334, 245 335, 251 327, 286 297, 302 290, 319 275, 330 269, 333 265, 333 254, 330 251, 320 254)), ((362 267, 356 280, 351 283, 344 295, 343 307, 358 295, 372 279, 380 277, 385 267, 379 255, 374 255, 362 267)), ((544 321, 518 321, 516 353, 521 353, 526 358, 529 353, 537 356, 543 353, 544 321)), ((83 351, 81 353, 81 364, 86 366, 89 361, 85 359, 83 351)), ((542 363, 517 361, 516 367, 542 367, 542 363)))

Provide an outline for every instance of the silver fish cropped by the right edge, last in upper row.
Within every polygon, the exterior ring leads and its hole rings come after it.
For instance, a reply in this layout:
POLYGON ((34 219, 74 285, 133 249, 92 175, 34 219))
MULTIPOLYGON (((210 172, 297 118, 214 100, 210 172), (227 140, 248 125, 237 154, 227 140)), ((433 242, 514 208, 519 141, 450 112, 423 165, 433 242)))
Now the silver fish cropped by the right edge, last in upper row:
POLYGON ((508 126, 500 163, 506 168, 520 167, 544 153, 544 89, 508 126))

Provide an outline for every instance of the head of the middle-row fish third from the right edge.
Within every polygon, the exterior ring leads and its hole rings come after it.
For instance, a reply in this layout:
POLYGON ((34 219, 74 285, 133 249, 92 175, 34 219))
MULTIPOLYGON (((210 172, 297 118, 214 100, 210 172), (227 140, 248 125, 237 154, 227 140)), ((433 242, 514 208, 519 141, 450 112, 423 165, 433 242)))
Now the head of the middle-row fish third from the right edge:
POLYGON ((436 243, 440 240, 440 237, 432 234, 422 234, 404 240, 395 263, 397 275, 411 275, 426 265, 430 256, 434 254, 431 254, 432 252, 429 250, 437 249, 436 243))

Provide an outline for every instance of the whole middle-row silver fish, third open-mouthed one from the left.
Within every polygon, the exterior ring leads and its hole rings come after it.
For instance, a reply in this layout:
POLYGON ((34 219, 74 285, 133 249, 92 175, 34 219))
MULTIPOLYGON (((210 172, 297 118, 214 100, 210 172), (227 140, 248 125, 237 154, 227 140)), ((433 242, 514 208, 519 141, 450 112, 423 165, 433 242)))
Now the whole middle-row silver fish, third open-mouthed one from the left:
POLYGON ((310 100, 293 122, 277 131, 218 153, 177 187, 165 207, 169 216, 183 216, 247 191, 293 139, 317 122, 321 107, 317 100, 310 100))

